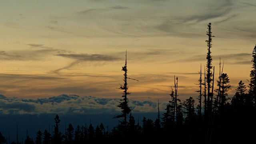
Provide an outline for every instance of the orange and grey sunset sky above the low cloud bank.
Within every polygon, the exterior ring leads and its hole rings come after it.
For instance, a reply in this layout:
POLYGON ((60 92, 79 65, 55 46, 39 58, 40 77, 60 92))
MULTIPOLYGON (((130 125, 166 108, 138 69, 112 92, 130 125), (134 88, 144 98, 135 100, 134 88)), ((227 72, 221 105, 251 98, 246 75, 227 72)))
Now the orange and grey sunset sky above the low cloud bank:
POLYGON ((211 22, 214 83, 221 59, 234 96, 250 78, 255 14, 255 0, 1 0, 0 94, 121 98, 127 50, 139 80, 128 98, 168 102, 174 75, 179 98, 196 98, 211 22))

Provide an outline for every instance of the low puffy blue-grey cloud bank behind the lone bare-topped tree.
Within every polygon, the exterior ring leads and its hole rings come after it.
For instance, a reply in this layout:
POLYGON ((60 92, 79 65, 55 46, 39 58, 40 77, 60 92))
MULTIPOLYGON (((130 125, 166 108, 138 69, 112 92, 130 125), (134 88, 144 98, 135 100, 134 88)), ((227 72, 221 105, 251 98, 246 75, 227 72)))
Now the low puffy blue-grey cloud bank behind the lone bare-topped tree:
MULTIPOLYGON (((116 105, 120 99, 97 98, 61 94, 50 98, 23 99, 8 98, 0 95, 1 114, 114 114, 120 112, 116 105)), ((158 104, 149 100, 135 101, 128 99, 134 112, 157 112, 158 104)), ((160 105, 166 105, 160 103, 160 105)))

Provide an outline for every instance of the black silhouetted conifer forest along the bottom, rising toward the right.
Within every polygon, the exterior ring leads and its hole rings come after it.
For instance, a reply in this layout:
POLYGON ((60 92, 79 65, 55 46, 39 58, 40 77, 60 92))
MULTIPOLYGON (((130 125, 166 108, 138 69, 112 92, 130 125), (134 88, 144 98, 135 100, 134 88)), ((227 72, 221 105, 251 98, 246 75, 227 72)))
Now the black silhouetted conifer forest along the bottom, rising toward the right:
MULTIPOLYGON (((29 135, 22 142, 8 141, 7 136, 0 132, 0 144, 95 144, 95 143, 181 143, 181 144, 231 144, 253 143, 256 136, 256 46, 252 52, 252 70, 249 84, 242 80, 238 83, 234 96, 228 96, 231 90, 228 74, 223 72, 221 62, 219 72, 212 66, 212 35, 211 23, 208 24, 206 66, 198 73, 197 98, 189 97, 181 101, 178 98, 178 77, 174 76, 174 86, 170 86, 170 100, 163 114, 156 113, 152 120, 144 117, 135 120, 132 109, 127 102, 128 77, 127 61, 122 67, 124 83, 120 84, 123 91, 122 99, 117 107, 120 114, 113 116, 119 123, 112 129, 103 123, 97 126, 77 125, 71 123, 60 132, 60 118, 56 114, 53 132, 49 129, 38 130, 33 140, 29 135), (202 72, 204 71, 204 72, 202 72), (217 74, 216 74, 217 73, 217 74), (217 78, 214 76, 218 75, 217 78), (216 81, 216 84, 214 83, 216 81), (196 105, 195 102, 198 101, 196 105)), ((138 81, 138 80, 137 80, 138 81)))

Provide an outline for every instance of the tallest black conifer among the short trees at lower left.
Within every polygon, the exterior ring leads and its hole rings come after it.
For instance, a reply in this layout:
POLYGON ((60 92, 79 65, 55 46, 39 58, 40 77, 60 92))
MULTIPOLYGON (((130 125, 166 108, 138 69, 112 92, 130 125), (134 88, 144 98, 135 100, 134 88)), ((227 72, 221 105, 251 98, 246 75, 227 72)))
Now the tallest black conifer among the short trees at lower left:
POLYGON ((56 114, 54 120, 55 120, 55 125, 54 125, 54 134, 52 137, 52 141, 54 144, 61 144, 62 143, 62 134, 59 131, 60 118, 59 118, 58 114, 56 114))

